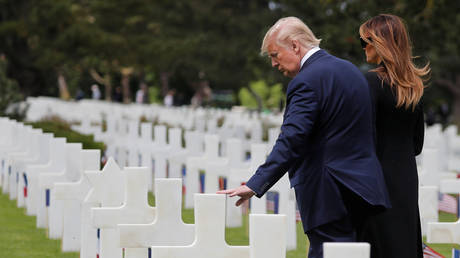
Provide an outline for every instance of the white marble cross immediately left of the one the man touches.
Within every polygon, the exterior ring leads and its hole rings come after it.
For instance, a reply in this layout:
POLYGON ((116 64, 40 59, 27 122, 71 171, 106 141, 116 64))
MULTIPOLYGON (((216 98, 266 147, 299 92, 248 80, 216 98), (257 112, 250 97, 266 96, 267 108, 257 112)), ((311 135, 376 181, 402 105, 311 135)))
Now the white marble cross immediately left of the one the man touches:
POLYGON ((145 248, 155 245, 189 245, 193 242, 195 226, 182 221, 181 181, 178 178, 155 180, 154 221, 144 225, 118 225, 120 246, 145 248))

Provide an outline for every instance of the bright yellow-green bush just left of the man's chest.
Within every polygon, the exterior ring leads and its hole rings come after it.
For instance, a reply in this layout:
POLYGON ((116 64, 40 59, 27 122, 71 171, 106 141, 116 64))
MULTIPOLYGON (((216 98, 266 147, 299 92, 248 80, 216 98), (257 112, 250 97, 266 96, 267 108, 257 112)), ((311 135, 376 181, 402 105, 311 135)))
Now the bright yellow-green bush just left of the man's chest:
MULTIPOLYGON (((281 83, 269 86, 266 81, 259 80, 250 82, 248 87, 260 98, 264 109, 279 108, 280 102, 285 98, 281 83)), ((247 87, 240 89, 238 98, 242 106, 251 109, 258 108, 256 97, 247 87)))

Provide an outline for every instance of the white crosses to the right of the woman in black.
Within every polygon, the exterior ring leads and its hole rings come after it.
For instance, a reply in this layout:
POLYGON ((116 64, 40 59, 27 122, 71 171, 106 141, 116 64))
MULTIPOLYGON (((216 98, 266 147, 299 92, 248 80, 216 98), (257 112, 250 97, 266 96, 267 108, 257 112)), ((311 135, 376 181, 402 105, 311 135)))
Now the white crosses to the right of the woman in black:
POLYGON ((419 163, 419 207, 422 234, 428 243, 460 244, 460 221, 438 222, 440 194, 459 194, 460 137, 456 126, 444 131, 436 124, 425 130, 423 152, 419 163), (454 172, 454 173, 453 173, 454 172))

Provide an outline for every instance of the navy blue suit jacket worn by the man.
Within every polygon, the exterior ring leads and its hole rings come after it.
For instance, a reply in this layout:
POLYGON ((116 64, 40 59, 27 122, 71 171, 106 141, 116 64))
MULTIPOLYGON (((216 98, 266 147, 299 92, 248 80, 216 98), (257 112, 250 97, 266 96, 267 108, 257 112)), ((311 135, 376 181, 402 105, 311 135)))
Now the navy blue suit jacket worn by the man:
POLYGON ((371 205, 389 207, 363 74, 320 50, 307 59, 286 95, 281 134, 246 184, 256 196, 289 171, 305 232, 347 214, 338 182, 371 205))

